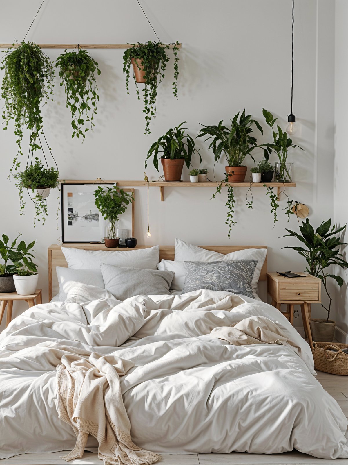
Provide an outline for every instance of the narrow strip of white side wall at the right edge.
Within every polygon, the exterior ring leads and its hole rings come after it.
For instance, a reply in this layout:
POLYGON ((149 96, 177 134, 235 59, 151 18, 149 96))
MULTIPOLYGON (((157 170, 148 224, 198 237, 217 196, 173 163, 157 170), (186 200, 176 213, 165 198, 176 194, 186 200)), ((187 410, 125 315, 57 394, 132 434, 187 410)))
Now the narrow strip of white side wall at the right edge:
MULTIPOLYGON (((334 160, 334 199, 335 222, 340 226, 347 223, 348 186, 346 173, 348 171, 347 159, 347 108, 348 108, 348 3, 345 0, 336 0, 335 5, 335 160, 334 160)), ((344 236, 347 241, 347 233, 344 236)), ((347 255, 344 253, 347 260, 347 255)), ((336 338, 348 343, 348 290, 347 270, 335 270, 344 279, 340 289, 336 289, 336 338)))

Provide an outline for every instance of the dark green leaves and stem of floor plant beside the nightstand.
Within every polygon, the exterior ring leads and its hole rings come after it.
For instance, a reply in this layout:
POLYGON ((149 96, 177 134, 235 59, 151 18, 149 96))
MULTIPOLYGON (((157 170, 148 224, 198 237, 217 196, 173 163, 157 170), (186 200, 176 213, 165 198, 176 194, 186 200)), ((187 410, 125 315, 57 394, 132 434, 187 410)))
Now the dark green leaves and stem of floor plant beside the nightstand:
POLYGON ((327 287, 327 279, 334 279, 340 287, 343 285, 343 279, 341 276, 330 274, 325 270, 331 265, 337 265, 343 269, 348 267, 348 263, 342 259, 343 254, 339 252, 338 248, 339 246, 345 245, 346 242, 341 242, 341 237, 335 236, 335 234, 346 229, 346 226, 347 225, 336 228, 334 225, 331 227, 331 219, 328 219, 327 221, 323 221, 322 224, 316 228, 316 231, 314 231, 313 226, 309 223, 309 219, 306 218, 306 221, 302 222, 302 226, 299 226, 301 234, 285 228, 289 234, 283 236, 295 237, 301 242, 301 246, 287 246, 283 247, 283 249, 296 250, 307 262, 308 266, 306 271, 322 280, 325 292, 329 297, 329 306, 325 307, 322 304, 322 307, 328 312, 327 321, 329 320, 332 301, 327 287))

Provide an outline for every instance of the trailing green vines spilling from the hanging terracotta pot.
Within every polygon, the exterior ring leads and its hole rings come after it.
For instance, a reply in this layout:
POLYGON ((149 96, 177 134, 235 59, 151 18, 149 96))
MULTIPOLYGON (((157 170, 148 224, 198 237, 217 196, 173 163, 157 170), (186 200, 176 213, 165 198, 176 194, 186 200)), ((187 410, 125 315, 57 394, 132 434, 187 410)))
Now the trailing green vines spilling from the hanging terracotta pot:
MULTIPOLYGON (((152 42, 149 40, 147 43, 141 44, 138 42, 137 45, 132 45, 128 48, 123 54, 123 73, 126 74, 126 87, 127 93, 129 94, 129 76, 130 76, 130 66, 132 64, 131 60, 139 59, 141 64, 138 61, 135 61, 136 66, 139 69, 144 71, 145 86, 143 89, 143 102, 145 113, 145 134, 150 134, 149 125, 152 118, 156 116, 156 96, 157 96, 157 87, 160 85, 161 81, 164 79, 164 73, 166 65, 169 61, 166 50, 170 49, 170 45, 173 45, 174 53, 174 81, 172 84, 174 97, 178 98, 178 51, 179 51, 179 42, 174 44, 162 44, 161 42, 152 42)), ((135 90, 138 100, 140 100, 139 87, 134 77, 135 90)))

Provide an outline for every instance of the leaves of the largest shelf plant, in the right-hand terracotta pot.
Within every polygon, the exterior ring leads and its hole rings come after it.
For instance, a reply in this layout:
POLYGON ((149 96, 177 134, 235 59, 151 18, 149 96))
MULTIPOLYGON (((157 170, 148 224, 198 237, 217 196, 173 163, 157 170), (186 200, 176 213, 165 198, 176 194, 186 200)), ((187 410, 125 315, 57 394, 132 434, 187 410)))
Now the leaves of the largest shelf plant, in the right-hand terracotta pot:
POLYGON ((251 152, 257 146, 255 137, 251 136, 252 124, 263 133, 262 127, 256 120, 251 119, 251 115, 245 115, 245 109, 239 117, 238 112, 231 121, 231 128, 224 126, 221 120, 218 126, 203 126, 197 137, 208 136, 206 140, 212 139, 208 150, 212 149, 215 161, 219 161, 221 153, 226 155, 228 166, 241 166, 247 155, 252 157, 251 152))

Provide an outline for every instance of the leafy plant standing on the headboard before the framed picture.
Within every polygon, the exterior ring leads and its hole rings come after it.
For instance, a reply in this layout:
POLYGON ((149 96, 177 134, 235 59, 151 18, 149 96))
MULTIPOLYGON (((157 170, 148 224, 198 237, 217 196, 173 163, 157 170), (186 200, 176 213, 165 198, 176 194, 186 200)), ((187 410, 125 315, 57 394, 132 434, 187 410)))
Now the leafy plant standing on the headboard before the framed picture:
POLYGON ((128 194, 117 186, 98 186, 94 191, 95 204, 105 220, 108 220, 108 235, 104 238, 106 247, 117 247, 120 238, 116 234, 116 222, 132 201, 132 194, 128 194))

